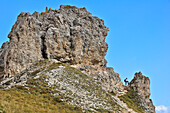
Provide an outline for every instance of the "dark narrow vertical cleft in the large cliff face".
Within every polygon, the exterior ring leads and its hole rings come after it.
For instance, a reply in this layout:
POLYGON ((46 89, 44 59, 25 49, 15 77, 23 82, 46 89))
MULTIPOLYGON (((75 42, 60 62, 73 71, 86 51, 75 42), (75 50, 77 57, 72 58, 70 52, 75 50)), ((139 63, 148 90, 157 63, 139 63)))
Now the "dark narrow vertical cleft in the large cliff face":
POLYGON ((41 36, 41 54, 44 59, 48 59, 47 47, 45 45, 45 36, 41 36))

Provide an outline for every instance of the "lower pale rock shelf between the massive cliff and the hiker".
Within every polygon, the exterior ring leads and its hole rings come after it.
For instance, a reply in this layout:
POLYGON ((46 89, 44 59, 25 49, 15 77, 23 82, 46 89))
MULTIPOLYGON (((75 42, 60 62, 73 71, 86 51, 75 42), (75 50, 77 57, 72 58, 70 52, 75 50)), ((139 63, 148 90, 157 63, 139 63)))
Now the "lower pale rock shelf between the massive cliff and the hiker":
POLYGON ((76 65, 74 67, 99 81, 106 91, 118 93, 124 89, 119 74, 114 72, 113 68, 89 65, 76 65))

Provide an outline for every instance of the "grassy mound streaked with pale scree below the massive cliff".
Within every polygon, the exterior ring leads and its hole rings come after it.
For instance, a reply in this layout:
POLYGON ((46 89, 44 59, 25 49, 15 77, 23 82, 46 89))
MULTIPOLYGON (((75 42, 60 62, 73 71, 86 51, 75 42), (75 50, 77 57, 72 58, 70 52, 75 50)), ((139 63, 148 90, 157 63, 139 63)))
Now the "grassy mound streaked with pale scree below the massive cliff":
POLYGON ((3 111, 112 113, 123 109, 100 83, 61 62, 37 62, 17 75, 17 82, 23 76, 25 83, 0 90, 3 111))

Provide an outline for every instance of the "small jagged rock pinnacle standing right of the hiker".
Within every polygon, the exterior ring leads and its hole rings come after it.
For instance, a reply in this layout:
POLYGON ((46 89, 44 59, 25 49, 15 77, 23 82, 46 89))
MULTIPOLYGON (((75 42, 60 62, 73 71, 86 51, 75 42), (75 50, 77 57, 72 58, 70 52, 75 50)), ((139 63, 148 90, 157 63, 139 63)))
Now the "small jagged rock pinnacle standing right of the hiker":
POLYGON ((141 72, 135 73, 135 77, 129 83, 129 87, 137 91, 138 95, 141 98, 141 107, 145 110, 146 113, 155 113, 155 107, 152 103, 150 97, 150 80, 148 77, 142 75, 141 72))

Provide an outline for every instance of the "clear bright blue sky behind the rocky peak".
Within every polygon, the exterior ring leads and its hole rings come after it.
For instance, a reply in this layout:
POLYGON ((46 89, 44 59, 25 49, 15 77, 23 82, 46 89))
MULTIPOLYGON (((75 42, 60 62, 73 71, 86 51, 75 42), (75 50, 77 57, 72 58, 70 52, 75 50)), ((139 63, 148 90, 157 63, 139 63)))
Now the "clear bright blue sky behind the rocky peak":
MULTIPOLYGON (((86 7, 109 27, 108 66, 123 80, 141 71, 151 80, 154 105, 170 106, 170 0, 1 0, 0 45, 20 12, 86 7)), ((159 111, 158 111, 159 112, 159 111)))

